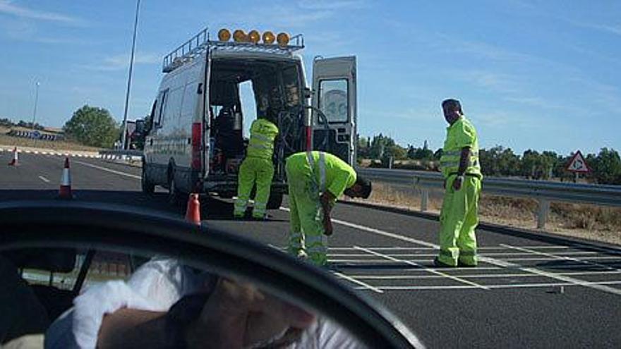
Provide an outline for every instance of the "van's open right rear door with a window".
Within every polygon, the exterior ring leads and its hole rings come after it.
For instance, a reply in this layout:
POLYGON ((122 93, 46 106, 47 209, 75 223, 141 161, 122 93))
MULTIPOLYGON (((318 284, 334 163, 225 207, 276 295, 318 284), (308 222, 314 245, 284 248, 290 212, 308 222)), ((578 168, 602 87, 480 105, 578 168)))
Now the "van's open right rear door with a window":
POLYGON ((356 162, 356 56, 313 61, 313 149, 356 162))

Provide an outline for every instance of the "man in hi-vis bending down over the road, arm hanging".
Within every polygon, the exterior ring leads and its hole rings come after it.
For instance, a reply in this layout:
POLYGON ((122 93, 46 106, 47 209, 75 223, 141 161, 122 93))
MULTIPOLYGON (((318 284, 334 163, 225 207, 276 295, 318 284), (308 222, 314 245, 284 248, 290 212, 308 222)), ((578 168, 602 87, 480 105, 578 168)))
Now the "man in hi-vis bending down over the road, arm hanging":
POLYGON ((371 183, 349 164, 326 152, 300 152, 287 158, 291 230, 289 253, 315 265, 327 264, 327 239, 332 235, 330 211, 337 198, 368 198, 371 183))

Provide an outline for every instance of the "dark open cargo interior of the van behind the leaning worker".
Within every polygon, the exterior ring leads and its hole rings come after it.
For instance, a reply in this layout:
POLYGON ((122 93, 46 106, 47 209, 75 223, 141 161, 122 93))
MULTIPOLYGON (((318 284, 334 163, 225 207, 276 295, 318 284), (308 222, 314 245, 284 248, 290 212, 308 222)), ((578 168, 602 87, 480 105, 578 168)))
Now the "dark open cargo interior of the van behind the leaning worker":
MULTIPOLYGON (((250 81, 257 116, 270 118, 279 130, 299 128, 277 137, 275 145, 275 179, 284 179, 284 159, 300 149, 303 104, 301 69, 296 61, 258 59, 214 59, 210 75, 210 173, 236 174, 244 157, 248 140, 243 137, 240 84, 250 81), (289 147, 284 147, 289 145, 289 147)), ((251 122, 251 121, 249 121, 251 122)), ((282 131, 281 131, 282 133, 282 131)))

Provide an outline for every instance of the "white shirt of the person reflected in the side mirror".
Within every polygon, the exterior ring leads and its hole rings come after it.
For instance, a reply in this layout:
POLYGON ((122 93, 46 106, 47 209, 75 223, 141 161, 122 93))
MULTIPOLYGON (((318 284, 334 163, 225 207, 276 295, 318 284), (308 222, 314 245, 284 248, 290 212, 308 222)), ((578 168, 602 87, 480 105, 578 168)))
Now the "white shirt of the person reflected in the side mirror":
MULTIPOLYGON (((197 273, 176 259, 156 257, 138 268, 128 281, 107 281, 88 288, 73 308, 49 326, 45 348, 95 348, 105 314, 123 307, 167 312, 184 295, 196 292, 211 274, 197 273)), ((318 317, 289 348, 364 348, 342 327, 318 317)))

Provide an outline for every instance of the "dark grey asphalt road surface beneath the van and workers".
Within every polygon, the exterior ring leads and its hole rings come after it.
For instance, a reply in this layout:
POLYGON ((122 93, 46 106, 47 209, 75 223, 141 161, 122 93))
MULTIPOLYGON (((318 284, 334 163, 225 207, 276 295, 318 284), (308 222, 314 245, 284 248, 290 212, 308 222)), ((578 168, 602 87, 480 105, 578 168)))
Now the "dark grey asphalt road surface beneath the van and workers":
MULTIPOLYGON (((56 197, 63 157, 0 152, 0 200, 56 197)), ((75 200, 135 205, 181 216, 167 190, 140 192, 140 169, 71 159, 75 200)), ((230 200, 203 200, 207 226, 282 249, 287 202, 264 222, 234 221, 230 200)), ((438 269, 438 221, 339 203, 330 272, 397 314, 430 348, 618 348, 621 247, 539 232, 481 228, 477 268, 438 269)))

